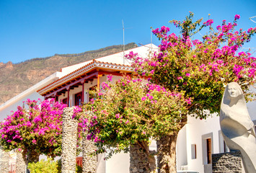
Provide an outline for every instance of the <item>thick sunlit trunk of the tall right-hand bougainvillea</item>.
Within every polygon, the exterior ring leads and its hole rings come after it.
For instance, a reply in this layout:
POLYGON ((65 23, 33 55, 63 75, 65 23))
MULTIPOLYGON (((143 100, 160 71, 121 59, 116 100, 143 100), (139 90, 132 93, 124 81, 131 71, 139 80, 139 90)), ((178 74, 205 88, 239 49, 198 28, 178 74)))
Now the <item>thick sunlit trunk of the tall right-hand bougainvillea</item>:
POLYGON ((160 173, 176 173, 177 132, 156 141, 157 165, 160 173))

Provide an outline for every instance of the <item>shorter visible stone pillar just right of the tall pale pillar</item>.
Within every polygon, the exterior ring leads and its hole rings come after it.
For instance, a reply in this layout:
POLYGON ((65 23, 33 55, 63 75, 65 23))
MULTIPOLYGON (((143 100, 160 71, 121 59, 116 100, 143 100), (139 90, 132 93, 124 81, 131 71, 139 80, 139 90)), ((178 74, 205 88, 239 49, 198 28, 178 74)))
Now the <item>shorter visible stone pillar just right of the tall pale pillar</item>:
POLYGON ((87 140, 87 138, 83 136, 82 149, 83 149, 83 173, 96 173, 97 156, 90 155, 96 150, 96 146, 94 146, 94 142, 87 140))

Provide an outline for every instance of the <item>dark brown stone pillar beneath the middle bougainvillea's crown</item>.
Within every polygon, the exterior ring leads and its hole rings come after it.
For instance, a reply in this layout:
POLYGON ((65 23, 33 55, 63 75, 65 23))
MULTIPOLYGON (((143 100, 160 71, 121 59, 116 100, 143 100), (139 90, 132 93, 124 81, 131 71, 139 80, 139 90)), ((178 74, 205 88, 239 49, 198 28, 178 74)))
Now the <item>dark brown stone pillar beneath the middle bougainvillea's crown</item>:
POLYGON ((137 143, 130 146, 130 173, 149 173, 149 159, 137 143))

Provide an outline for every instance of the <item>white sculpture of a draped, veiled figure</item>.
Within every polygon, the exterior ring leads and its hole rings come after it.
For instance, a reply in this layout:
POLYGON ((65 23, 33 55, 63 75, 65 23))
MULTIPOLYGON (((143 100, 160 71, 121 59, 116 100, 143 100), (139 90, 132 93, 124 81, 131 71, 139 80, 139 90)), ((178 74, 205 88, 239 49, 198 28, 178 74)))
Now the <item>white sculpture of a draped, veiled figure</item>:
POLYGON ((220 124, 229 149, 241 151, 245 172, 256 173, 255 129, 242 89, 236 82, 226 86, 221 101, 220 124))

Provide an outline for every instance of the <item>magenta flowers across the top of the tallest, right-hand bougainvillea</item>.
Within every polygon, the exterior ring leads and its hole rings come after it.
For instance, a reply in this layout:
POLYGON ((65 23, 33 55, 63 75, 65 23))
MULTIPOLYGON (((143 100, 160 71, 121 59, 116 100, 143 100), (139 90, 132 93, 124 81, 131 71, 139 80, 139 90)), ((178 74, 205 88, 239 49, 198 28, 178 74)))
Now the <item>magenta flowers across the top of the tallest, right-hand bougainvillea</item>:
MULTIPOLYGON (((234 23, 226 23, 226 20, 223 21, 222 26, 217 26, 216 37, 203 37, 203 41, 200 40, 190 40, 190 37, 183 38, 177 37, 175 33, 167 34, 169 32, 169 28, 162 27, 161 30, 157 28, 153 30, 153 33, 161 39, 161 44, 159 45, 159 53, 154 53, 154 58, 141 58, 136 53, 128 54, 128 58, 133 60, 132 66, 135 68, 135 71, 142 75, 152 76, 156 72, 157 68, 164 68, 169 63, 169 52, 172 52, 172 55, 177 57, 186 56, 185 50, 192 50, 194 54, 194 58, 207 55, 211 59, 208 59, 208 62, 204 62, 198 64, 199 71, 204 71, 208 73, 209 76, 213 76, 213 73, 224 71, 224 69, 228 69, 232 66, 232 73, 237 76, 237 79, 246 78, 249 76, 250 78, 255 78, 256 76, 256 68, 255 68, 255 57, 250 56, 250 53, 238 53, 238 50, 242 48, 244 42, 249 42, 250 37, 255 34, 255 28, 249 28, 247 31, 234 31, 234 27, 237 26, 237 20, 240 18, 239 14, 236 14, 234 17, 234 23), (210 45, 219 45, 221 41, 226 40, 227 45, 215 46, 210 45), (206 44, 209 45, 206 48, 206 44), (213 50, 209 48, 213 48, 213 50), (227 62, 226 57, 234 57, 233 61, 227 62), (238 65, 240 64, 240 65, 238 65), (145 67, 148 71, 144 70, 145 67), (246 68, 244 68, 246 66, 246 68), (146 74, 146 72, 148 74, 146 74)), ((173 22, 175 26, 180 27, 180 22, 173 22)), ((209 26, 213 24, 213 19, 208 19, 206 22, 203 22, 203 25, 209 26)), ((176 79, 182 81, 185 77, 191 76, 191 70, 194 71, 194 66, 190 64, 187 65, 187 70, 183 70, 183 76, 177 76, 176 79)))

